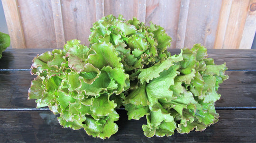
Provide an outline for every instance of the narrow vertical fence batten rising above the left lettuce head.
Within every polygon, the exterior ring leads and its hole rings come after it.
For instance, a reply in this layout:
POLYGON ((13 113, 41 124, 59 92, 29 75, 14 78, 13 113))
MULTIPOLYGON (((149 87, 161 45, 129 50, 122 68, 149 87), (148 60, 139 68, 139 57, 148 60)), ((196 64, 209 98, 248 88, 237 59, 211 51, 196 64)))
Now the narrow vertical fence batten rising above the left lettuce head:
POLYGON ((57 48, 62 49, 65 44, 63 18, 60 0, 51 0, 54 18, 57 48))

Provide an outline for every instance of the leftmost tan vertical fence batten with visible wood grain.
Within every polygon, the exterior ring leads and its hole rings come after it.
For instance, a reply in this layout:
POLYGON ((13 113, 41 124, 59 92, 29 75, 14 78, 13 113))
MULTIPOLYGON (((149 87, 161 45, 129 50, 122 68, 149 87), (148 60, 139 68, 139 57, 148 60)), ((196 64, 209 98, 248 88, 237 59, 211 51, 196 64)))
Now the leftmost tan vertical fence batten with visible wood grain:
POLYGON ((27 48, 17 0, 2 0, 12 48, 27 48))

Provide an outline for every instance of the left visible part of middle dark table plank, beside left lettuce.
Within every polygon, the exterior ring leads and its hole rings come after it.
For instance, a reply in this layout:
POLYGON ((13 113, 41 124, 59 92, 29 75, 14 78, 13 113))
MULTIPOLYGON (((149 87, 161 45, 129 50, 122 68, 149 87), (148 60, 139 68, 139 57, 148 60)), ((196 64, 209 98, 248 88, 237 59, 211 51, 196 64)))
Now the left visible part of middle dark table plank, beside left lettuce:
POLYGON ((35 101, 27 100, 35 77, 30 71, 0 71, 0 108, 36 108, 35 101))

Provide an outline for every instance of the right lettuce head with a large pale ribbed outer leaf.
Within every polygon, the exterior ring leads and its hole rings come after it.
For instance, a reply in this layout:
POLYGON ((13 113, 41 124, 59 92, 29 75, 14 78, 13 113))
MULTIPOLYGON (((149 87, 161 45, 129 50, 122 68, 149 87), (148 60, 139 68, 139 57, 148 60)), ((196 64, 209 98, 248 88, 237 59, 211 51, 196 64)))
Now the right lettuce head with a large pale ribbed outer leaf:
POLYGON ((139 88, 124 100, 128 119, 146 115, 142 128, 147 137, 170 136, 175 129, 203 131, 218 121, 214 102, 220 97, 219 84, 228 78, 226 64, 214 65, 200 44, 181 51, 159 65, 140 69, 139 88))

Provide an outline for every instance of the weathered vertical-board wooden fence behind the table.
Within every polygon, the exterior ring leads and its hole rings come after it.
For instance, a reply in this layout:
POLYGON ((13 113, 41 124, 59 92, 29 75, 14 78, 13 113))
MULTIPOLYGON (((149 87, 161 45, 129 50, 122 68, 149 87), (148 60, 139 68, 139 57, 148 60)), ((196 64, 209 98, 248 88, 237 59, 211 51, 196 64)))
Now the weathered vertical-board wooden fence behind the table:
POLYGON ((113 14, 165 28, 170 48, 201 43, 215 49, 250 49, 256 32, 256 0, 1 0, 12 48, 88 45, 92 24, 113 14))

